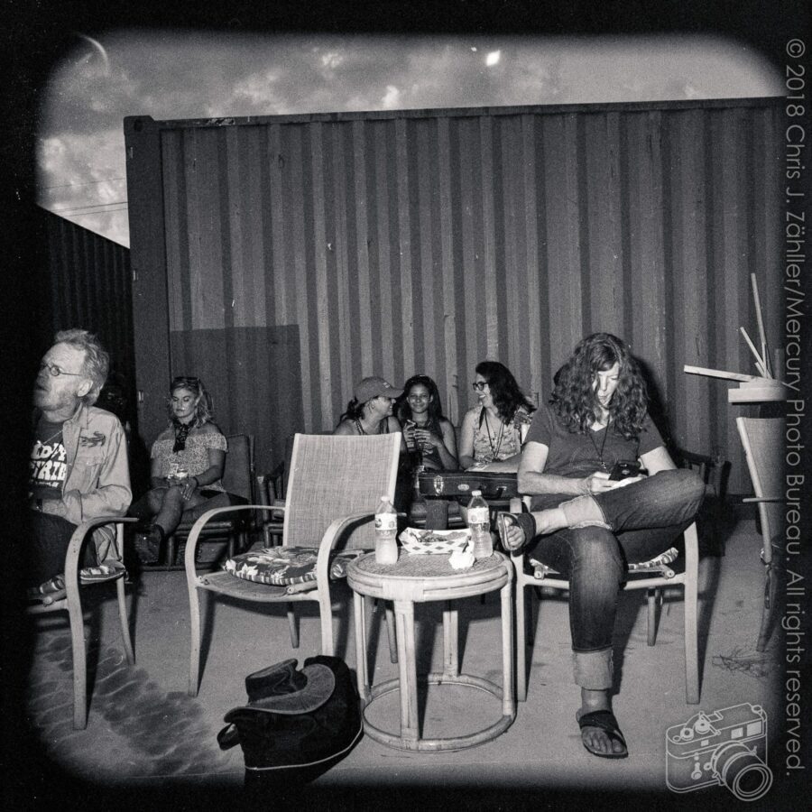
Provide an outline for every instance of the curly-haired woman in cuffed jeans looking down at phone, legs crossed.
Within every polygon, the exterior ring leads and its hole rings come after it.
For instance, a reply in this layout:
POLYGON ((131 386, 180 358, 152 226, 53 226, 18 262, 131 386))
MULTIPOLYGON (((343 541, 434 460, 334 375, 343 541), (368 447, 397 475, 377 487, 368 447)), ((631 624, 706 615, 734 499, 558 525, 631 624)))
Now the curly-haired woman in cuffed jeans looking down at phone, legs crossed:
POLYGON ((519 490, 530 513, 500 513, 503 547, 521 549, 569 579, 569 627, 577 722, 588 752, 628 755, 612 713, 612 635, 627 561, 669 549, 694 521, 705 485, 677 470, 648 414, 648 395, 629 348, 609 333, 584 338, 536 412, 521 454, 519 490), (648 475, 609 479, 616 462, 639 460, 648 475))

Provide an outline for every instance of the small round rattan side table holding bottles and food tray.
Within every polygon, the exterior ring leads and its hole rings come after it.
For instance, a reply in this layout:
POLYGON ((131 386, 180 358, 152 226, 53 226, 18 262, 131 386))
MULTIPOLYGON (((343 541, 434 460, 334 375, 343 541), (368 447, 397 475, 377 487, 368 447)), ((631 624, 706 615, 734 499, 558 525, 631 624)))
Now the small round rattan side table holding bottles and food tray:
POLYGON ((475 561, 469 569, 456 570, 447 555, 407 555, 401 550, 397 564, 375 563, 374 553, 352 561, 346 571, 353 590, 355 609, 355 657, 358 692, 364 703, 364 731, 376 742, 401 750, 438 752, 462 750, 488 742, 503 734, 516 718, 513 695, 513 568, 502 553, 475 561), (457 661, 457 609, 451 601, 471 595, 500 591, 502 608, 502 687, 488 679, 459 673, 457 661), (370 687, 367 674, 366 619, 364 597, 394 604, 399 677, 370 687), (502 700, 502 716, 476 733, 438 739, 420 738, 417 700, 417 667, 414 649, 414 604, 448 602, 443 612, 443 670, 428 675, 429 685, 463 685, 478 688, 502 700), (384 694, 400 690, 401 730, 393 734, 372 724, 366 711, 384 694))

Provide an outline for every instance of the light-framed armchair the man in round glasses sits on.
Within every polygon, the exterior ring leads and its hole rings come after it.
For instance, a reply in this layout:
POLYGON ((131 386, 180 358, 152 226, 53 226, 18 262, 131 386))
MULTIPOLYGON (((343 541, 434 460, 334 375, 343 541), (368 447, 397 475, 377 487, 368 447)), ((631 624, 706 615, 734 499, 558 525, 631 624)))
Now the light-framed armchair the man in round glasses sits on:
POLYGON ((88 726, 88 664, 85 650, 85 623, 82 614, 81 591, 87 586, 115 581, 118 596, 118 616, 121 623, 121 636, 124 642, 127 662, 133 665, 135 656, 133 643, 130 640, 130 627, 127 620, 125 603, 125 576, 127 571, 123 564, 124 525, 138 521, 121 516, 103 516, 83 521, 70 537, 68 553, 65 556, 65 594, 57 593, 55 599, 35 603, 27 607, 28 614, 50 614, 67 612, 70 622, 70 641, 73 655, 73 727, 84 730, 88 726), (82 548, 85 543, 93 543, 92 531, 101 525, 115 524, 115 548, 117 559, 105 561, 103 567, 79 569, 82 548))

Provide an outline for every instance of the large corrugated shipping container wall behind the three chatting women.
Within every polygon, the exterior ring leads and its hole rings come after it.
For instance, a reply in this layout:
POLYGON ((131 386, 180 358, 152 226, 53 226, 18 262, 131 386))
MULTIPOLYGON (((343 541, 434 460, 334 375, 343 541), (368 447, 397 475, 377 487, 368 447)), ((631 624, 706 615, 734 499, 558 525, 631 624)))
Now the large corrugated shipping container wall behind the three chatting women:
POLYGON ((608 330, 651 374, 674 442, 721 450, 746 491, 748 407, 683 365, 753 371, 738 333, 756 330, 751 272, 779 346, 779 113, 757 99, 126 119, 134 263, 163 252, 171 374, 205 374, 261 463, 289 430, 334 427, 364 375, 431 375, 458 423, 478 361, 541 401, 577 341, 608 330), (165 243, 150 246, 138 218, 156 206, 165 243))

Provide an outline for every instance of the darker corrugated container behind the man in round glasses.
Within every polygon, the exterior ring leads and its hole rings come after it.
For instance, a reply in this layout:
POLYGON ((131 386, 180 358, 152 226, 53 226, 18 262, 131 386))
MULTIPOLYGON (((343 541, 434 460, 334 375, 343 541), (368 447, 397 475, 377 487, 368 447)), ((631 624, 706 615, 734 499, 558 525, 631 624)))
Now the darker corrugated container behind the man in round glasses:
MULTIPOLYGON (((84 328, 97 334, 111 369, 135 391, 133 294, 130 252, 106 237, 40 209, 46 248, 36 309, 40 349, 58 330, 84 328)), ((134 404, 133 411, 134 411, 134 404)))

